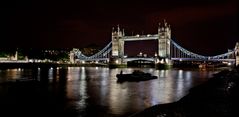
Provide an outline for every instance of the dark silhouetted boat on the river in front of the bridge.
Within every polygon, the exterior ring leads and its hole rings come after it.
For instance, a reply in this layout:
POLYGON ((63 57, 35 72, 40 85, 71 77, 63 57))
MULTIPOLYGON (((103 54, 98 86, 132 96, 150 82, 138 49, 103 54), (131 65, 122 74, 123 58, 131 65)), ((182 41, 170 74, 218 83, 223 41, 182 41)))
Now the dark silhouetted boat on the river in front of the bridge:
POLYGON ((117 74, 118 82, 123 81, 146 81, 151 79, 157 79, 157 76, 153 76, 150 73, 145 73, 140 70, 135 70, 131 74, 123 74, 122 71, 120 74, 117 74))

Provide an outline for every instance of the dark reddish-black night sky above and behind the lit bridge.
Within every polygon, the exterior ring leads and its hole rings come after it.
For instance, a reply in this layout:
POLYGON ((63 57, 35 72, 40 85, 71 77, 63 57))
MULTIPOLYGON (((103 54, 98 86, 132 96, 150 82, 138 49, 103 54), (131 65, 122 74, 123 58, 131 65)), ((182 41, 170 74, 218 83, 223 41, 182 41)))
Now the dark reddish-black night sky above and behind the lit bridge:
MULTIPOLYGON (((126 35, 157 34, 164 19, 173 40, 198 54, 221 54, 239 41, 237 0, 18 0, 3 6, 1 47, 104 47, 118 24, 126 35)), ((127 42, 126 52, 152 53, 156 44, 127 42)))

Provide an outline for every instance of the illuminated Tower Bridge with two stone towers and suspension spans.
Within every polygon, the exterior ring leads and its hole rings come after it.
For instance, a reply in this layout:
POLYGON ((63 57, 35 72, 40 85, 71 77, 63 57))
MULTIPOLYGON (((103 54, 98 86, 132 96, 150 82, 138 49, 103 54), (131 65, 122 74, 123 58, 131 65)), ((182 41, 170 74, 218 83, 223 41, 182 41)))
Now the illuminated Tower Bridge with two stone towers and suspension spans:
POLYGON ((230 62, 239 65, 239 43, 236 43, 232 51, 215 55, 203 56, 178 45, 171 38, 171 28, 166 21, 158 26, 158 34, 126 36, 124 30, 117 27, 112 30, 112 41, 109 42, 102 50, 92 56, 85 56, 79 49, 73 49, 70 53, 70 60, 74 63, 80 62, 104 61, 109 64, 127 64, 128 61, 147 60, 154 61, 155 64, 173 64, 173 61, 216 61, 230 62), (125 56, 124 45, 127 41, 158 40, 158 50, 154 57, 137 57, 130 58, 125 56), (76 59, 75 59, 76 58, 76 59))

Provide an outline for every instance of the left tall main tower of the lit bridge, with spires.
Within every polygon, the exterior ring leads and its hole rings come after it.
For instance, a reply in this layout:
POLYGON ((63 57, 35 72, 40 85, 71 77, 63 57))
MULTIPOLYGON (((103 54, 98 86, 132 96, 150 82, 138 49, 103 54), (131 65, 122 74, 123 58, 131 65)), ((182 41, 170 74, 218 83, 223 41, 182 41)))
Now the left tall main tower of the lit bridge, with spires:
POLYGON ((124 36, 124 31, 120 30, 119 25, 117 26, 117 30, 112 29, 112 57, 110 62, 115 64, 123 64, 124 63, 124 40, 122 37, 124 36))

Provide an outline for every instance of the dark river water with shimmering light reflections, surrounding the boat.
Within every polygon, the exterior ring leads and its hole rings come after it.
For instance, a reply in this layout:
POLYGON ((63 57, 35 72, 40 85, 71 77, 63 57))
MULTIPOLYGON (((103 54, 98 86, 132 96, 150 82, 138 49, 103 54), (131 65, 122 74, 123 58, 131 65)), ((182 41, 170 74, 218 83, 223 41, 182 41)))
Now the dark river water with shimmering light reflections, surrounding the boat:
POLYGON ((156 104, 179 100, 216 72, 103 67, 5 69, 0 70, 0 112, 18 112, 21 116, 129 116, 156 104), (158 79, 118 83, 116 74, 121 70, 142 70, 158 79), (16 82, 17 79, 39 82, 16 82))

